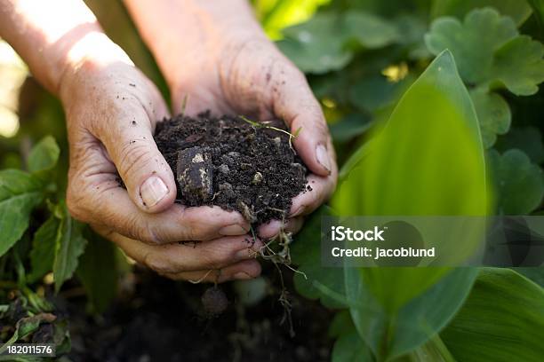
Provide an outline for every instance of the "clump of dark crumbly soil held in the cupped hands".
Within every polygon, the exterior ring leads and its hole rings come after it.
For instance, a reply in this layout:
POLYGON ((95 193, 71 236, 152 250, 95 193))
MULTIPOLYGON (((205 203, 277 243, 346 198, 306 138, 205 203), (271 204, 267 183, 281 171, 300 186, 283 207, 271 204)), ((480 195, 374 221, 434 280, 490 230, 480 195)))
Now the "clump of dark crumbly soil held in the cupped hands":
POLYGON ((308 169, 284 122, 256 126, 238 116, 178 115, 159 122, 155 141, 172 168, 178 200, 237 210, 252 224, 282 219, 305 191, 308 169))

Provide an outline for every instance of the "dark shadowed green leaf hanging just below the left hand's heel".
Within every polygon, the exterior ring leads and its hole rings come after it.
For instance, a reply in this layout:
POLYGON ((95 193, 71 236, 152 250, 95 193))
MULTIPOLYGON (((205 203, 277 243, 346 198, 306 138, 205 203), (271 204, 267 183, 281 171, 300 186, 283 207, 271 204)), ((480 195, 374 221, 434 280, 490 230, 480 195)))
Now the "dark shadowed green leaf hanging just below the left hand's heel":
POLYGON ((85 228, 84 237, 88 244, 76 274, 84 285, 92 311, 101 313, 117 293, 116 247, 89 228, 85 228))

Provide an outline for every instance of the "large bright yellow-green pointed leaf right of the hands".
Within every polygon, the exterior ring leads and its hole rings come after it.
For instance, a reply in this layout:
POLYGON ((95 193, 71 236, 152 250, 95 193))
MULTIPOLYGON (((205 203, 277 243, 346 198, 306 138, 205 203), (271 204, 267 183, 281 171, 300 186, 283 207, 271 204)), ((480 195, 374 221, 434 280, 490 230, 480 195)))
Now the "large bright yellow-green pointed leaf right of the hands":
MULTIPOLYGON (((444 51, 412 84, 368 147, 332 200, 341 216, 486 214, 478 123, 450 52, 444 51)), ((447 271, 367 268, 361 272, 382 306, 394 313, 447 271)))

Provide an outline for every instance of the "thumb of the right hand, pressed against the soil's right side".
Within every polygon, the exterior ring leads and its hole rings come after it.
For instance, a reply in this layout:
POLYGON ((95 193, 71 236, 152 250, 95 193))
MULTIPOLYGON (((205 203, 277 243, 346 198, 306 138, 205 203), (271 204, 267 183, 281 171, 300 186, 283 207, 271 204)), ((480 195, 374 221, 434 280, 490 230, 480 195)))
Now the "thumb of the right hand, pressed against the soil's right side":
POLYGON ((321 106, 296 67, 288 63, 276 67, 274 114, 284 119, 292 134, 298 134, 293 145, 308 168, 316 175, 330 175, 336 165, 321 106))

